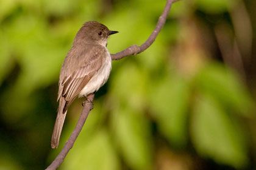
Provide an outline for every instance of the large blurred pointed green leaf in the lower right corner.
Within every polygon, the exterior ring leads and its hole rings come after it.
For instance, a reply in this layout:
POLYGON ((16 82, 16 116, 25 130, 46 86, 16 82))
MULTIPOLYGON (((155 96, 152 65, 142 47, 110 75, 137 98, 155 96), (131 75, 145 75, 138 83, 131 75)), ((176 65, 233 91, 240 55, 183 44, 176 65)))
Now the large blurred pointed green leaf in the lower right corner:
POLYGON ((191 116, 191 136, 202 156, 235 168, 243 168, 247 164, 244 137, 236 122, 228 117, 214 98, 207 95, 197 98, 191 116))

